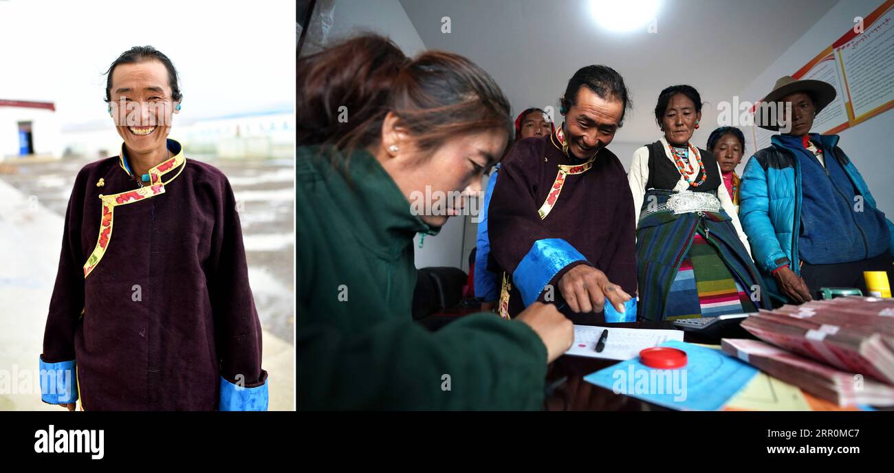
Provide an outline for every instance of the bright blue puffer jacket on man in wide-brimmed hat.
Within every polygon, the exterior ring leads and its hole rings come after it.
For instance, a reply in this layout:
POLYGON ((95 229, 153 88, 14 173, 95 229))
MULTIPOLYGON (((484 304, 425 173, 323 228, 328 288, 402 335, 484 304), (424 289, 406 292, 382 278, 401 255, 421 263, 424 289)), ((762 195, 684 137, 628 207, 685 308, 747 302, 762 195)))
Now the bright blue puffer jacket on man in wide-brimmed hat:
MULTIPOLYGON (((819 135, 823 149, 833 150, 856 193, 863 196, 864 206, 876 208, 873 194, 863 176, 848 156, 838 148, 838 135, 819 135)), ((798 258, 798 235, 801 224, 801 166, 794 153, 785 148, 779 135, 771 138, 771 146, 763 148, 748 160, 742 174, 738 218, 751 244, 751 254, 763 275, 772 297, 790 300, 780 292, 770 273, 783 265, 801 275, 798 258)), ((887 221, 891 233, 890 248, 894 253, 894 224, 887 221)))

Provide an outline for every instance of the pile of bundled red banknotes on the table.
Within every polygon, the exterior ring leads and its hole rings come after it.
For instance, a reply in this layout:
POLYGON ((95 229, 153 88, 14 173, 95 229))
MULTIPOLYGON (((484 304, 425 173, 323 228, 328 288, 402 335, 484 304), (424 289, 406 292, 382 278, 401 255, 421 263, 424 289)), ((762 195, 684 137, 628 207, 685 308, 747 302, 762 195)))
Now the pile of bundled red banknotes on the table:
POLYGON ((742 327, 763 342, 724 339, 723 351, 841 406, 894 405, 894 299, 814 300, 742 327))

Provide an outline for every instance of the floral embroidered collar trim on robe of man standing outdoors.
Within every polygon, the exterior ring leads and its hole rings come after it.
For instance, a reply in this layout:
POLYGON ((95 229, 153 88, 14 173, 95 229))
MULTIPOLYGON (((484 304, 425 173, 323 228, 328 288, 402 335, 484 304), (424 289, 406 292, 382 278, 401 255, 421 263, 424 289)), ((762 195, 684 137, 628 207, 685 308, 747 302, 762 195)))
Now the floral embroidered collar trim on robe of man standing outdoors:
MULTIPOLYGON (((125 172, 132 176, 133 174, 127 168, 127 165, 124 162, 123 154, 124 151, 122 145, 122 154, 119 156, 121 158, 120 165, 125 172)), ((126 206, 127 204, 132 204, 134 202, 139 202, 140 200, 145 200, 147 198, 153 198, 157 195, 164 194, 164 185, 176 179, 176 177, 180 175, 180 173, 183 171, 183 168, 185 167, 186 157, 183 156, 183 151, 181 148, 181 151, 177 153, 176 156, 173 156, 160 165, 156 165, 152 169, 149 169, 148 186, 141 187, 135 190, 119 192, 117 194, 99 194, 99 198, 103 201, 102 218, 100 219, 99 224, 97 246, 93 249, 93 252, 90 253, 89 258, 87 258, 87 262, 84 263, 85 278, 97 267, 99 261, 105 255, 105 249, 108 248, 109 242, 112 241, 114 207, 126 206), (162 176, 164 176, 165 173, 169 173, 178 167, 180 167, 180 171, 178 171, 177 174, 175 174, 170 180, 168 180, 168 182, 161 181, 161 178, 162 176)))

